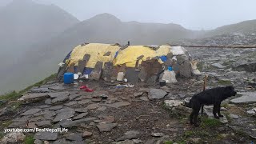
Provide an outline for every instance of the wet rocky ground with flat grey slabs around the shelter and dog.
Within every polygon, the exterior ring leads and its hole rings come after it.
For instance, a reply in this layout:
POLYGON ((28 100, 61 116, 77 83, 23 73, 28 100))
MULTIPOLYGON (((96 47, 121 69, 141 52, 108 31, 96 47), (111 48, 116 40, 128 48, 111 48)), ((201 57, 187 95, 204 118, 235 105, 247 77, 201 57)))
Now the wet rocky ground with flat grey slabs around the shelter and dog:
POLYGON ((63 85, 47 82, 6 102, 0 113, 1 143, 250 143, 256 142, 255 49, 188 49, 202 76, 175 84, 116 86, 105 82, 63 85), (254 71, 254 72, 253 72, 254 71), (238 95, 222 102, 224 118, 212 118, 211 106, 190 126, 185 98, 207 89, 233 85, 238 95), (94 92, 79 90, 89 86, 94 92), (104 99, 106 98, 106 99, 104 99), (6 128, 66 128, 67 132, 8 133, 6 128), (34 140, 33 140, 34 139, 34 140))

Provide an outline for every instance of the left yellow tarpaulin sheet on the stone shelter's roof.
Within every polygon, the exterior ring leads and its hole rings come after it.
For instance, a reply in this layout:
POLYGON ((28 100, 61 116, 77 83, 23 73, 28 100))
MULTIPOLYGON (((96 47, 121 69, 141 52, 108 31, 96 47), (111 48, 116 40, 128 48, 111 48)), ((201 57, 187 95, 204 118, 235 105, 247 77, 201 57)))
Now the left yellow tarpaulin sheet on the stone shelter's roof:
MULTIPOLYGON (((112 46, 110 44, 90 43, 85 46, 77 46, 70 54, 69 66, 74 63, 78 65, 78 61, 82 60, 85 54, 90 54, 90 59, 86 63, 86 67, 94 68, 96 62, 110 62, 114 59, 115 53, 120 49, 120 46, 112 46), (109 56, 104 56, 110 52, 109 56)), ((104 65, 103 65, 104 66, 104 65)))

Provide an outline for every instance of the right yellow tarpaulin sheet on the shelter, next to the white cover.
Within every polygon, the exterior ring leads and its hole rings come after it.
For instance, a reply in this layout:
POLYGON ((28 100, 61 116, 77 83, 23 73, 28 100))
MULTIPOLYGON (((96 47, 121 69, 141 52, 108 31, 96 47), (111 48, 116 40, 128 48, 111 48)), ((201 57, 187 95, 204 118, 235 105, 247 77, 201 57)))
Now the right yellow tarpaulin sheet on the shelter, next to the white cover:
MULTIPOLYGON (((126 64, 126 67, 135 67, 137 58, 143 55, 144 57, 138 62, 146 61, 147 58, 167 55, 170 53, 170 46, 160 46, 158 50, 152 50, 148 46, 128 46, 124 50, 118 52, 117 58, 114 60, 114 66, 126 64)), ((159 60, 162 63, 161 60, 159 60)))

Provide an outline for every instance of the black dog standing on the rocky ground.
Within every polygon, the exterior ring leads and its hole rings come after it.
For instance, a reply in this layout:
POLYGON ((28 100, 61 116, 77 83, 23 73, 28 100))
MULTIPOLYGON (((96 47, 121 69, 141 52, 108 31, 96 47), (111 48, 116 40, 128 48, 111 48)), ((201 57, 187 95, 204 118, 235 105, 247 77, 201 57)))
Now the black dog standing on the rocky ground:
POLYGON ((194 124, 194 126, 198 126, 198 113, 200 111, 200 107, 203 105, 214 105, 214 118, 223 117, 223 115, 220 113, 222 101, 231 96, 235 96, 235 94, 237 93, 234 91, 233 86, 216 87, 214 89, 205 90, 199 94, 195 94, 190 99, 189 104, 193 109, 192 113, 190 114, 190 123, 194 124))

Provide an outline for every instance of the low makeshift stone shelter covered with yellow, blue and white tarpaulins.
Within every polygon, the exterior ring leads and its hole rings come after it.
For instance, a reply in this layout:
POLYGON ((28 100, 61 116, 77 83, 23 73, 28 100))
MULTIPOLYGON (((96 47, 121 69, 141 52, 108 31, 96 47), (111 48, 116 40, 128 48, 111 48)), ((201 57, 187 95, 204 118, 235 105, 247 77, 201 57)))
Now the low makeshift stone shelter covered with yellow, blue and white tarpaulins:
POLYGON ((58 70, 58 78, 68 71, 78 73, 81 78, 89 74, 91 79, 114 81, 122 72, 128 82, 156 82, 168 66, 172 66, 176 74, 190 78, 196 67, 192 68, 191 60, 190 54, 182 46, 88 43, 76 46, 66 56, 58 70))

